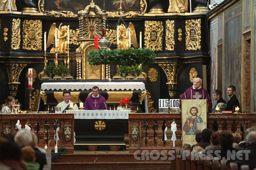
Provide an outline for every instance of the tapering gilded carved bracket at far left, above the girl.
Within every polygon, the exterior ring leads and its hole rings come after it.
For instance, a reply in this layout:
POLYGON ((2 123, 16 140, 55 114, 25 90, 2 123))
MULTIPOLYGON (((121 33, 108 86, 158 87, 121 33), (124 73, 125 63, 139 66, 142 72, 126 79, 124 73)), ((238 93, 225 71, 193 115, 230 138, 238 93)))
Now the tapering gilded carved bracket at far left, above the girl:
POLYGON ((8 77, 9 77, 9 90, 10 95, 12 97, 16 97, 18 85, 20 82, 18 82, 18 78, 20 77, 20 73, 24 67, 27 66, 26 63, 5 63, 4 64, 8 77))

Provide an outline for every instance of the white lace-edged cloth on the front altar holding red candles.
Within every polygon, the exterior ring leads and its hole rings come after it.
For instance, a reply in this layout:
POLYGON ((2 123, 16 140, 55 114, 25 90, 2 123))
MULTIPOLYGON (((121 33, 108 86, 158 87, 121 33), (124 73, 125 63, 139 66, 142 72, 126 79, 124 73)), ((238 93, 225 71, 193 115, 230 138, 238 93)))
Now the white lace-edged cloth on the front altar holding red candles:
POLYGON ((128 119, 130 111, 65 111, 74 113, 75 119, 128 119))

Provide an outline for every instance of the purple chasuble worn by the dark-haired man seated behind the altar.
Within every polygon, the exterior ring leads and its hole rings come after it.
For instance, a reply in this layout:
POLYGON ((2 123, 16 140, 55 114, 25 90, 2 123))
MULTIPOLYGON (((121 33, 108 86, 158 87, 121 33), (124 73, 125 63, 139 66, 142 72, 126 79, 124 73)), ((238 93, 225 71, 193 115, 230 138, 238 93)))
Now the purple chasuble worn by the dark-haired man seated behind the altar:
POLYGON ((84 110, 108 109, 106 99, 103 96, 99 94, 98 98, 94 98, 92 95, 85 99, 84 110))

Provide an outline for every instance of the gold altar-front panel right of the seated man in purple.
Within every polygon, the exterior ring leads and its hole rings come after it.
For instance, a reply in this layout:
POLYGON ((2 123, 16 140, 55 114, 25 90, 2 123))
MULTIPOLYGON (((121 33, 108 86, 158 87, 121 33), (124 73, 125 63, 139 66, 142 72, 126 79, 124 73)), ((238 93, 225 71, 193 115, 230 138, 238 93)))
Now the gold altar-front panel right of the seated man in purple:
POLYGON ((119 103, 124 97, 128 97, 128 100, 130 100, 133 96, 133 91, 107 91, 107 94, 107 103, 119 103))

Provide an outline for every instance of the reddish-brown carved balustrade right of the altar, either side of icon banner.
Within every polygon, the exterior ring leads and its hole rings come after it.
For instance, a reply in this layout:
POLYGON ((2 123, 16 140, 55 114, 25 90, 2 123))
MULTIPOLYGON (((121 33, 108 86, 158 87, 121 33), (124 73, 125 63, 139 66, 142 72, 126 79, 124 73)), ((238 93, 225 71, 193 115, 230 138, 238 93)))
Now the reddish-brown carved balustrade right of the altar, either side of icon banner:
MULTIPOLYGON (((247 128, 256 125, 256 114, 217 114, 209 113, 207 115, 207 128, 218 130, 228 130, 243 135, 247 128)), ((129 152, 133 153, 138 148, 140 150, 167 150, 175 147, 182 147, 181 131, 181 114, 180 113, 130 113, 129 114, 129 152), (167 125, 167 141, 162 141, 163 131, 162 124, 167 125), (176 128, 171 128, 175 121, 176 128), (156 126, 156 124, 158 126, 156 126), (155 124, 155 125, 154 125, 155 124), (147 125, 147 126, 145 126, 147 125), (147 127, 147 130, 146 130, 147 127), (155 132, 154 132, 155 127, 155 132), (173 130, 173 131, 172 131, 173 130), (175 136, 173 133, 175 132, 175 136), (155 135, 154 135, 155 134, 155 135), (154 137, 155 136, 155 137, 154 137), (155 141, 154 141, 155 139, 155 141), (139 146, 139 147, 138 147, 139 146)))

